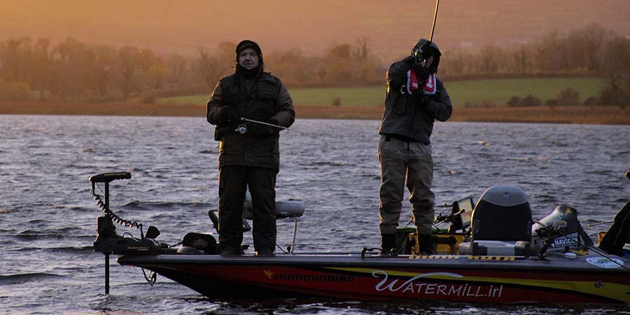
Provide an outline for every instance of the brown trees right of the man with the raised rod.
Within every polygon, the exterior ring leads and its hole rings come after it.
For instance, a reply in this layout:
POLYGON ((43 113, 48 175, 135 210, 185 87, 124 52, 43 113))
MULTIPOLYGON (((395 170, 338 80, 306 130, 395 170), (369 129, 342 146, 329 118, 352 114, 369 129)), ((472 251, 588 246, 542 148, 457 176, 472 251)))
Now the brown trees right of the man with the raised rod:
POLYGON ((465 48, 444 54, 442 76, 512 74, 524 76, 615 76, 630 73, 630 39, 598 25, 568 33, 553 31, 537 41, 465 48))

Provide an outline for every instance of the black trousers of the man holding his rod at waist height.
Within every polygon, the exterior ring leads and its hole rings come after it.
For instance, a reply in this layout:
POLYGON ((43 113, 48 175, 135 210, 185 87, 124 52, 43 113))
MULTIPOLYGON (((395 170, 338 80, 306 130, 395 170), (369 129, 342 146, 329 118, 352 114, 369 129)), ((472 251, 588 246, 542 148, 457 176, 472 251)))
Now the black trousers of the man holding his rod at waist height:
POLYGON ((247 186, 251 193, 255 251, 276 247, 276 175, 265 167, 226 166, 219 170, 219 243, 241 249, 243 207, 247 186))

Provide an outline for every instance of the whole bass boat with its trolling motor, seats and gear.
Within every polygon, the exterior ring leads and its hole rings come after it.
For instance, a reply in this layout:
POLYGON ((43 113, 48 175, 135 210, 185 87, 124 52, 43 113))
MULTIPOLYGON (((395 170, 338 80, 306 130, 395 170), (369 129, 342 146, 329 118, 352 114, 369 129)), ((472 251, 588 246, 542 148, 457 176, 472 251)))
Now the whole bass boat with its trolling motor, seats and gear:
MULTIPOLYGON (((435 255, 419 255, 414 228, 398 228, 397 248, 381 253, 294 253, 297 219, 304 204, 276 202, 278 218, 294 221, 293 241, 283 253, 260 257, 218 255, 220 245, 208 233, 188 233, 181 246, 158 241, 159 230, 125 221, 109 208, 111 181, 128 172, 90 177, 92 194, 104 216, 98 218, 94 251, 120 265, 150 270, 209 297, 333 297, 350 300, 445 300, 479 303, 630 304, 627 242, 630 202, 595 246, 582 230, 577 211, 559 206, 534 220, 523 190, 493 186, 477 202, 464 197, 437 216, 432 241, 435 255), (95 186, 104 185, 104 195, 95 186), (113 222, 140 229, 139 238, 116 234, 113 222), (626 250, 624 251, 624 246, 626 250)), ((246 202, 244 229, 251 215, 246 202)), ((209 216, 218 227, 215 211, 209 216)), ((129 235, 125 233, 124 235, 129 235)))

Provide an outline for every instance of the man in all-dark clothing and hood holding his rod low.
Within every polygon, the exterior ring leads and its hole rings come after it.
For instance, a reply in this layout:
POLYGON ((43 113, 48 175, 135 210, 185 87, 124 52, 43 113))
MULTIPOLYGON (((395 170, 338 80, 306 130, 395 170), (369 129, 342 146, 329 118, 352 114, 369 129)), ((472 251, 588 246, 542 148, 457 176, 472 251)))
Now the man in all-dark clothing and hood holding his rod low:
POLYGON ((276 247, 276 174, 280 169, 279 128, 295 120, 293 101, 279 78, 264 72, 262 50, 254 41, 236 48, 234 74, 221 78, 208 101, 207 119, 216 125, 219 149, 219 243, 221 255, 241 254, 243 206, 249 187, 253 245, 257 255, 276 247))

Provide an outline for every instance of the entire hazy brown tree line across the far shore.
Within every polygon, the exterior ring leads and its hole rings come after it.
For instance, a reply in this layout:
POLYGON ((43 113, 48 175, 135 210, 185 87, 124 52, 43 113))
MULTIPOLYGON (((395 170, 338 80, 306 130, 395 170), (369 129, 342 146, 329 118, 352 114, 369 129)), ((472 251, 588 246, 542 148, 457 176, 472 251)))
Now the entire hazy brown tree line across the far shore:
MULTIPOLYGON (((0 42, 0 100, 119 102, 209 93, 234 71, 236 43, 198 48, 191 55, 158 55, 134 46, 115 48, 68 38, 10 38, 0 42)), ((379 59, 367 38, 333 45, 319 56, 294 48, 265 53, 265 67, 288 87, 384 84, 391 61, 379 59)), ((440 76, 596 76, 627 90, 630 40, 598 25, 552 32, 537 41, 479 50, 442 51, 440 76)), ((627 92, 627 91, 626 91, 627 92)))

